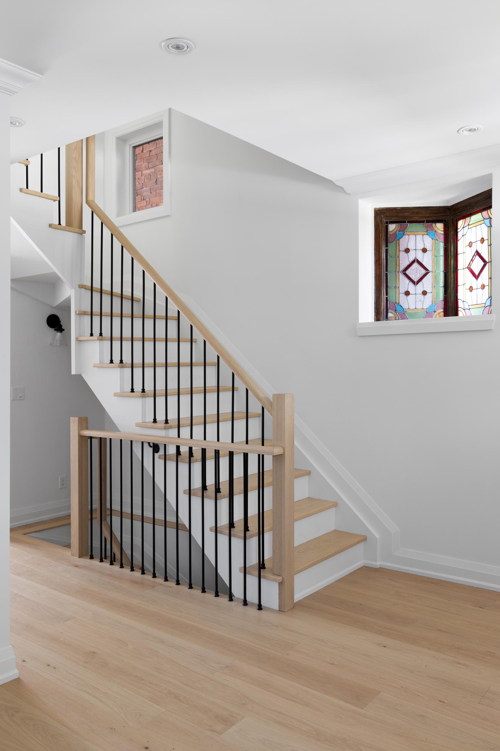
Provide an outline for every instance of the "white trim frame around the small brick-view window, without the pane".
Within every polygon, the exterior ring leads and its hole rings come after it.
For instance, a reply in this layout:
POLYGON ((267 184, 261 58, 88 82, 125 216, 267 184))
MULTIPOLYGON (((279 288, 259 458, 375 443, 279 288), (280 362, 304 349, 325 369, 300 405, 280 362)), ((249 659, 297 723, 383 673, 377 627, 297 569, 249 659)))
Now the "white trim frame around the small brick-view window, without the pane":
POLYGON ((118 227, 170 215, 169 110, 106 131, 104 176, 104 210, 118 227), (133 147, 157 138, 163 138, 163 205, 134 211, 133 147))

